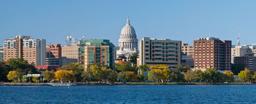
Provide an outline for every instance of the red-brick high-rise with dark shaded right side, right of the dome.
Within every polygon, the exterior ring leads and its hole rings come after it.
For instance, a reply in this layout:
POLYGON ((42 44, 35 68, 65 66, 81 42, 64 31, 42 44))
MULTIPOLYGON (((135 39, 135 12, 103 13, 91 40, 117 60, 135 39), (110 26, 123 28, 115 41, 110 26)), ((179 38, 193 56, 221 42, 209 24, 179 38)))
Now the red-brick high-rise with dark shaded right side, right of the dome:
POLYGON ((195 69, 231 70, 231 44, 213 37, 194 40, 195 69))

